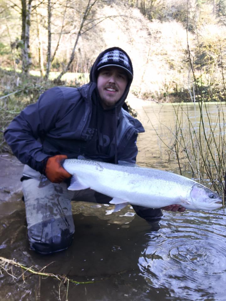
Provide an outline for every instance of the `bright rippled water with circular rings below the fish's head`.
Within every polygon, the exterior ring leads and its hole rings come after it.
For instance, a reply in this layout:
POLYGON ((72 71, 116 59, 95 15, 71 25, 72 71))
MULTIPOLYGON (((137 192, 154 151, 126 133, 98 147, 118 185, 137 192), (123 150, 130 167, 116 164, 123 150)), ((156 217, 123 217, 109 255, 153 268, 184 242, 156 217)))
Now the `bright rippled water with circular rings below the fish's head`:
POLYGON ((225 300, 226 237, 223 210, 165 214, 161 229, 147 233, 140 273, 152 288, 177 300, 225 300))

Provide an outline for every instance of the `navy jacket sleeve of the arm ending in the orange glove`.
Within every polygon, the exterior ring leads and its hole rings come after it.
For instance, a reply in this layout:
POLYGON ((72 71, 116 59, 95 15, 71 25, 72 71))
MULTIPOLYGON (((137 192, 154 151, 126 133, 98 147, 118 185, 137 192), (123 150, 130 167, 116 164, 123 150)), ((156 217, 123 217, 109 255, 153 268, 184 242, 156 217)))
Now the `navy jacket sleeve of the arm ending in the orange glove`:
POLYGON ((51 88, 40 96, 37 103, 21 111, 4 132, 13 154, 39 172, 43 169, 42 162, 50 156, 43 152, 41 138, 54 128, 62 103, 61 90, 58 87, 51 88))

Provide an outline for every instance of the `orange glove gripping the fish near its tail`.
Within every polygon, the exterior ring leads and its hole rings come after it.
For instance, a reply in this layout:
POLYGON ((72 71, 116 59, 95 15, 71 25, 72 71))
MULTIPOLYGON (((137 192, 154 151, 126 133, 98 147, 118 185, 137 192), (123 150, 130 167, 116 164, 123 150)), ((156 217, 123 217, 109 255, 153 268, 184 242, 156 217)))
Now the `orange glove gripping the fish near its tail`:
POLYGON ((61 166, 61 161, 65 159, 66 155, 56 155, 47 160, 45 174, 52 183, 60 183, 72 176, 61 166))

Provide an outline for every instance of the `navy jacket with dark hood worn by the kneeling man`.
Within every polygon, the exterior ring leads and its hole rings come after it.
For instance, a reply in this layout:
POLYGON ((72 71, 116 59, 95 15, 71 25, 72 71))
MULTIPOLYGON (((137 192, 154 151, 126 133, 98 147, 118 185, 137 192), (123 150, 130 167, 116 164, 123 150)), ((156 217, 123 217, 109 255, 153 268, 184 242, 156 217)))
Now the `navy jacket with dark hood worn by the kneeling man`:
POLYGON ((58 154, 68 158, 83 155, 111 163, 118 160, 135 163, 137 134, 144 129, 122 108, 132 80, 128 80, 116 105, 104 110, 100 104, 97 63, 110 49, 94 62, 88 84, 47 90, 37 103, 26 107, 9 124, 4 137, 22 163, 39 172, 43 171, 46 158, 58 154))

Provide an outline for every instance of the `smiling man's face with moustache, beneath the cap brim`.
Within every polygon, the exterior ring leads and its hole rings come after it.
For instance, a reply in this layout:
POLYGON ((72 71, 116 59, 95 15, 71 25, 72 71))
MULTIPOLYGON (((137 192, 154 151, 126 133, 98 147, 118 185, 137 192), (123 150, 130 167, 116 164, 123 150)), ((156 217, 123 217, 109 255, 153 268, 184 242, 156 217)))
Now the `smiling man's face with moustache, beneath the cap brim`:
POLYGON ((119 101, 127 82, 126 72, 120 67, 109 66, 100 70, 97 77, 97 89, 104 109, 112 107, 119 101))

